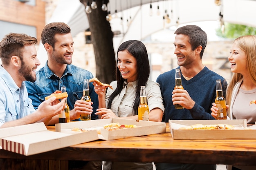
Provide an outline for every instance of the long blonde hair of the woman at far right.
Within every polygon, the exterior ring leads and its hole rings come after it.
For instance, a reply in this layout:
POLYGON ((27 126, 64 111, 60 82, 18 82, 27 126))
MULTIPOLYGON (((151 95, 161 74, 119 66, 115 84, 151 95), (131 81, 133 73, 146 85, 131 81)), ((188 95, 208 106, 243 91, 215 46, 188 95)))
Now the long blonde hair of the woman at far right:
MULTIPOLYGON (((234 43, 238 47, 245 51, 247 69, 250 75, 250 78, 256 85, 256 36, 241 36, 234 40, 234 43)), ((240 73, 234 73, 227 88, 227 104, 231 103, 231 94, 233 92, 234 86, 238 81, 243 78, 243 75, 240 73)))

